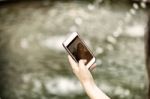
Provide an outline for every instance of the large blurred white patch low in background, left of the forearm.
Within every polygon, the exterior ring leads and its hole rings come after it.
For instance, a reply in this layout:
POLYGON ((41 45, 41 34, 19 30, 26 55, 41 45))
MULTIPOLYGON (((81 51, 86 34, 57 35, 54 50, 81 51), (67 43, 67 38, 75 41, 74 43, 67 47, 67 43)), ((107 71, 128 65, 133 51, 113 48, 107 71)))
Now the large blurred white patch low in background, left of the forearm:
POLYGON ((45 86, 50 93, 66 95, 71 93, 82 93, 82 86, 80 83, 75 82, 68 78, 55 78, 47 80, 45 86))

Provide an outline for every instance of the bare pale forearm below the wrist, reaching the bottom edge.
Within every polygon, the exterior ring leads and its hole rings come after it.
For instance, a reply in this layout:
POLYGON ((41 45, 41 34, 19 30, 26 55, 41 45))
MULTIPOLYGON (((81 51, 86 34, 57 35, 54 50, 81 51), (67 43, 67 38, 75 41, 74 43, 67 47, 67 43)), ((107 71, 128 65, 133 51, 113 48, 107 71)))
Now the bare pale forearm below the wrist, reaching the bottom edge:
POLYGON ((87 95, 91 99, 110 99, 106 94, 104 94, 95 83, 84 83, 82 84, 87 95))

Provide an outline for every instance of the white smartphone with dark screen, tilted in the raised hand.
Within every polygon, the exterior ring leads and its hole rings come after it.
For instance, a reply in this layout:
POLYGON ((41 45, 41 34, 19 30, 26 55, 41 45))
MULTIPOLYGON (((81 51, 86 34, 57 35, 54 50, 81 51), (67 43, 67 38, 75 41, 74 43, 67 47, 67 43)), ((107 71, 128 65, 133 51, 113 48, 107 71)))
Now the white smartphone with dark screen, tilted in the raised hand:
POLYGON ((80 38, 77 32, 73 32, 63 43, 63 47, 69 53, 69 55, 76 61, 80 59, 86 59, 86 67, 90 69, 90 66, 95 63, 95 57, 92 52, 87 48, 84 41, 80 38))

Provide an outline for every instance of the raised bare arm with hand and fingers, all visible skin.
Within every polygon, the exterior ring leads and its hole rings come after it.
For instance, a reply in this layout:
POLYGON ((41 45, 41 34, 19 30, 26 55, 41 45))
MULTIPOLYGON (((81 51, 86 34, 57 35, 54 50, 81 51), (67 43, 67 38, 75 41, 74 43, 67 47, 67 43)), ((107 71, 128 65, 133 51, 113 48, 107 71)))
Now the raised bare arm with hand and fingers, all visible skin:
MULTIPOLYGON (((90 97, 90 99, 110 99, 95 84, 91 72, 85 66, 86 60, 82 59, 79 61, 79 63, 76 63, 69 55, 68 59, 74 74, 81 82, 83 88, 85 89, 85 92, 90 97)), ((96 67, 96 65, 94 64, 91 67, 91 69, 93 69, 96 67)))

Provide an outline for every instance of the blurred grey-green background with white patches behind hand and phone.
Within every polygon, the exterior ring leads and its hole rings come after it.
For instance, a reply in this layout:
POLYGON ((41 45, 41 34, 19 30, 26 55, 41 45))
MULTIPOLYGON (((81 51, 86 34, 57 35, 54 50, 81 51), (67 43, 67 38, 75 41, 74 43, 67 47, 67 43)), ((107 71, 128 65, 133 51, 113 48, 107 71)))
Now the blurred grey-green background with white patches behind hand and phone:
POLYGON ((150 0, 0 0, 0 99, 87 99, 62 42, 79 32, 111 99, 145 99, 150 0))

